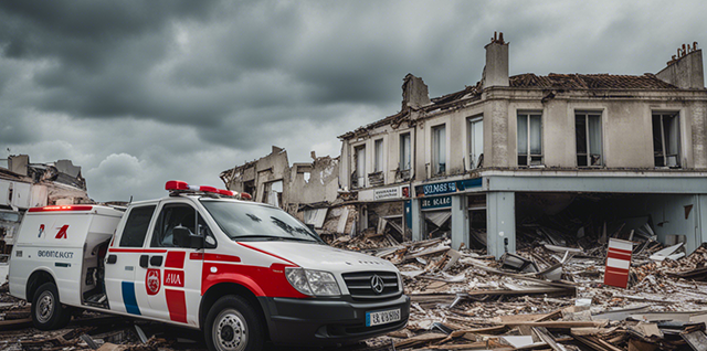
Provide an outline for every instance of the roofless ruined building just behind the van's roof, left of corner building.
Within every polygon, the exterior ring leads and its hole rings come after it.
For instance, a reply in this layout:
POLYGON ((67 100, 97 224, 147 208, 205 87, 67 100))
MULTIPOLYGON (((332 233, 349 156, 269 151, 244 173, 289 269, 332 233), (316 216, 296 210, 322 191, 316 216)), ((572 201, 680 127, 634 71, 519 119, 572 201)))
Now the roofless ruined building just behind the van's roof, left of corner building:
POLYGON ((270 155, 220 174, 226 189, 246 192, 254 201, 282 208, 320 233, 350 233, 356 212, 337 200, 339 158, 317 157, 289 166, 287 151, 273 146, 270 155))

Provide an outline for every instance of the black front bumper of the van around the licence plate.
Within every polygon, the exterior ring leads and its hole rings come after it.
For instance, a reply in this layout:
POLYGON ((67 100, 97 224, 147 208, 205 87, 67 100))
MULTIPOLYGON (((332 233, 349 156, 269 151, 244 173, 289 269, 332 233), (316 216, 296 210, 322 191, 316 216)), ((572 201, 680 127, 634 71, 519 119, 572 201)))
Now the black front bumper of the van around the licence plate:
POLYGON ((399 330, 408 323, 410 297, 383 301, 355 301, 350 296, 337 298, 258 297, 270 329, 279 344, 335 345, 399 330), (366 327, 366 312, 400 309, 400 321, 366 327))

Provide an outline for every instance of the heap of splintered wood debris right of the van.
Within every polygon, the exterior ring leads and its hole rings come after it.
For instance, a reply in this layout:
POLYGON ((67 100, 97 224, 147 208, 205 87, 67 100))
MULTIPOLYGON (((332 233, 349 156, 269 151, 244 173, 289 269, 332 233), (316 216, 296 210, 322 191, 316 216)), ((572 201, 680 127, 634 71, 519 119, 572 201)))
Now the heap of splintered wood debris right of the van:
POLYGON ((535 226, 499 260, 443 237, 401 244, 369 233, 331 244, 395 264, 412 299, 408 327, 370 349, 707 350, 707 247, 685 257, 647 224, 609 235, 605 226, 579 238, 535 226), (611 237, 634 242, 627 289, 603 284, 611 237))

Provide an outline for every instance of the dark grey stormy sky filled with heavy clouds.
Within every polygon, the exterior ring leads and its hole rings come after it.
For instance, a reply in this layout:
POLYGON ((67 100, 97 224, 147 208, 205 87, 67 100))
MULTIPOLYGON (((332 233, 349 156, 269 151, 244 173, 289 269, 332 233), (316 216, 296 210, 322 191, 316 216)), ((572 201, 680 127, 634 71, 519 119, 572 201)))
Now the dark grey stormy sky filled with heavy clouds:
POLYGON ((336 138, 474 85, 494 31, 510 74, 656 73, 707 44, 704 1, 0 2, 0 158, 71 159, 97 201, 165 195, 179 179, 336 138), (698 44, 698 47, 701 47, 698 44), (10 151, 8 151, 10 149, 10 151))

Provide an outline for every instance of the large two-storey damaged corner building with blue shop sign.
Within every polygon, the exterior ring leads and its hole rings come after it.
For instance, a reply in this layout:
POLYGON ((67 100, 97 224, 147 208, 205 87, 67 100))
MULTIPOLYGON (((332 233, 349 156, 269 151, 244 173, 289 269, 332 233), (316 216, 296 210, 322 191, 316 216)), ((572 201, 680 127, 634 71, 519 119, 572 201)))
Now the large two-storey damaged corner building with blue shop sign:
POLYGON ((503 34, 485 50, 475 85, 431 99, 409 74, 399 113, 339 136, 361 228, 404 217, 412 240, 447 235, 496 257, 518 233, 635 231, 688 253, 707 241, 697 43, 644 75, 509 76, 503 34))

